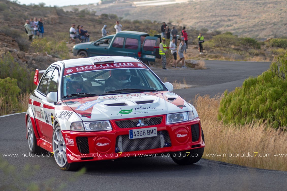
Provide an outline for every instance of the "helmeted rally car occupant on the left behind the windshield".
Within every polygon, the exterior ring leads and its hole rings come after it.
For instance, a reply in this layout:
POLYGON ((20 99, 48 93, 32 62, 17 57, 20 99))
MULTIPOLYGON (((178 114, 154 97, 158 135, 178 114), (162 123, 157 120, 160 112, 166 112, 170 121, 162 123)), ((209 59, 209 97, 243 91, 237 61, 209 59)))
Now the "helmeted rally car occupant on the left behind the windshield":
POLYGON ((84 91, 84 79, 81 74, 74 74, 67 77, 67 95, 82 93, 84 91))

